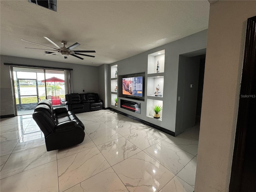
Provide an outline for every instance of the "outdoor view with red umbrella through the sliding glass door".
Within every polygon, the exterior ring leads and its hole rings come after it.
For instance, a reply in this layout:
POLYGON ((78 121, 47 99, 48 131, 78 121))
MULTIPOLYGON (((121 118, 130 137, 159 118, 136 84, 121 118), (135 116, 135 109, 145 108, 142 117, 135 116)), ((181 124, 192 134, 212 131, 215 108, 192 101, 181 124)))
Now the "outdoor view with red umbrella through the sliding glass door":
POLYGON ((64 106, 65 80, 63 70, 13 68, 14 90, 18 115, 32 114, 40 100, 52 106, 64 106))

